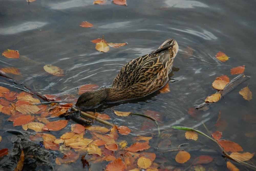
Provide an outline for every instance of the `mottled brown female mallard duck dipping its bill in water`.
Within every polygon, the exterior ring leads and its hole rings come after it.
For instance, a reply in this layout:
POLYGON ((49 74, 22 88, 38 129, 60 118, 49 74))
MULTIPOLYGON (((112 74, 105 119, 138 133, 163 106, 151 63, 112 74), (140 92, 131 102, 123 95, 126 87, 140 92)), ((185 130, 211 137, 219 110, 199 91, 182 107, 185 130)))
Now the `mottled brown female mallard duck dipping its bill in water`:
POLYGON ((155 92, 168 82, 168 73, 172 70, 178 49, 175 40, 166 40, 157 50, 124 65, 111 87, 83 93, 76 106, 96 106, 102 102, 134 99, 155 92))

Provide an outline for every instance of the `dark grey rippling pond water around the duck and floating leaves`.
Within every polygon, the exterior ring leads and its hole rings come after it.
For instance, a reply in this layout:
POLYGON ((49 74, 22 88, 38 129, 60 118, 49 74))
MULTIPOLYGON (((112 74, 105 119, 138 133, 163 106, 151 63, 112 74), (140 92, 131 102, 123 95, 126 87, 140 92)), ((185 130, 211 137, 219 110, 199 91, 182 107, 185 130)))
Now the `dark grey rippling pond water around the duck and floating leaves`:
MULTIPOLYGON (((128 61, 155 50, 165 40, 172 38, 178 42, 179 53, 173 64, 173 67, 178 69, 173 72, 172 80, 168 83, 170 92, 156 93, 128 103, 113 104, 112 109, 158 115, 161 133, 175 133, 169 138, 172 142, 171 148, 189 143, 190 146, 185 149, 191 154, 190 161, 199 155, 214 157, 212 163, 204 165, 206 168, 228 170, 218 147, 202 136, 199 136, 200 142, 186 140, 185 132, 173 130, 173 125, 193 127, 207 133, 202 125, 204 121, 209 131, 221 131, 223 139, 238 143, 244 152, 256 151, 255 1, 141 0, 127 1, 127 6, 113 4, 110 0, 104 5, 95 5, 92 2, 37 0, 28 3, 25 0, 1 0, 1 53, 6 49, 18 50, 20 55, 37 61, 38 64, 3 56, 0 67, 17 68, 22 76, 8 76, 35 92, 59 93, 78 98, 77 88, 81 85, 110 86, 121 67, 128 61), (82 21, 92 23, 93 27, 80 27, 82 21), (102 38, 103 35, 108 42, 127 42, 127 45, 110 48, 106 53, 99 52, 91 40, 102 38), (215 58, 219 51, 230 57, 227 62, 215 58), (194 56, 184 53, 193 53, 194 56), (65 75, 58 77, 48 74, 43 69, 45 64, 60 67, 65 75), (189 108, 195 108, 204 102, 207 96, 216 92, 211 86, 215 77, 227 75, 232 79, 236 75, 231 75, 230 69, 241 65, 245 65, 244 74, 251 76, 249 80, 211 105, 209 110, 200 112, 197 118, 188 114, 189 108), (238 93, 248 84, 253 94, 250 101, 243 99, 238 93), (222 122, 216 127, 219 112, 222 122), (200 152, 210 147, 219 153, 200 152)), ((8 83, 5 78, 2 78, 1 82, 8 83)), ((134 115, 118 117, 112 109, 103 106, 98 112, 109 115, 113 123, 128 126, 134 136, 157 137, 154 122, 134 115)), ((3 132, 7 129, 22 131, 22 128, 13 127, 7 121, 9 116, 1 113, 0 117, 0 135, 3 137, 0 149, 9 148, 11 153, 12 145, 8 144, 8 141, 15 135, 6 135, 3 132)), ((60 136, 62 133, 55 135, 60 136)), ((157 146, 156 139, 150 141, 151 148, 148 152, 156 153, 154 162, 159 164, 159 168, 160 165, 161 168, 169 170, 172 170, 171 166, 189 166, 175 162, 176 153, 159 153, 154 150, 157 146)), ((129 144, 133 143, 125 137, 123 140, 129 144)), ((8 155, 3 161, 7 157, 8 155)), ((255 157, 252 161, 255 163, 255 157)), ((101 169, 105 168, 106 164, 108 163, 102 164, 101 169)), ((72 168, 68 167, 69 170, 82 169, 79 159, 70 166, 72 168)), ((242 165, 236 166, 244 169, 242 165)))

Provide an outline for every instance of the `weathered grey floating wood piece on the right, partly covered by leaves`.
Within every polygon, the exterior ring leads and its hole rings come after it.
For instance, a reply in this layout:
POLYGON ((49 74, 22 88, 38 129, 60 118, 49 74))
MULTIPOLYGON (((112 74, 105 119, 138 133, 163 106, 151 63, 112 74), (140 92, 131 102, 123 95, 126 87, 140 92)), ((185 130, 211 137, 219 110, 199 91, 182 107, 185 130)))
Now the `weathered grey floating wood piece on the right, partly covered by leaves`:
MULTIPOLYGON (((246 81, 249 78, 250 78, 249 76, 246 76, 244 74, 240 74, 236 78, 232 79, 230 81, 230 83, 228 83, 222 91, 217 91, 216 93, 221 93, 221 96, 224 96, 225 94, 227 94, 228 92, 233 90, 236 86, 238 86, 239 84, 241 84, 242 82, 246 81)), ((212 103, 214 103, 214 102, 212 102, 212 103)), ((195 109, 206 111, 206 110, 209 109, 209 105, 211 105, 212 103, 203 102, 202 104, 195 107, 195 109)))

